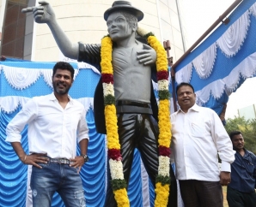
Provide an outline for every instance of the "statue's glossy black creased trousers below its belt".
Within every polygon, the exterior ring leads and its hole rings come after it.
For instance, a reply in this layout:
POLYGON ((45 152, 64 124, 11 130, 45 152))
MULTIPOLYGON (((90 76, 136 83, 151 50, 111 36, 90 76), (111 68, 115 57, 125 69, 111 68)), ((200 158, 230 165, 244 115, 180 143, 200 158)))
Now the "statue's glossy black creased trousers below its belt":
MULTIPOLYGON (((123 171, 127 184, 131 174, 131 165, 135 148, 140 151, 144 167, 149 174, 153 186, 155 176, 158 173, 158 126, 152 115, 147 114, 119 114, 119 142, 121 145, 123 171)), ((172 205, 177 206, 177 186, 174 171, 171 169, 172 184, 171 198, 172 205), (172 192, 174 191, 174 192, 172 192), (172 199, 173 198, 173 199, 172 199)), ((108 173, 109 174, 109 173, 108 173)), ((110 180, 110 179, 108 179, 110 180)), ((106 207, 116 207, 117 203, 113 196, 113 189, 108 182, 106 207)))

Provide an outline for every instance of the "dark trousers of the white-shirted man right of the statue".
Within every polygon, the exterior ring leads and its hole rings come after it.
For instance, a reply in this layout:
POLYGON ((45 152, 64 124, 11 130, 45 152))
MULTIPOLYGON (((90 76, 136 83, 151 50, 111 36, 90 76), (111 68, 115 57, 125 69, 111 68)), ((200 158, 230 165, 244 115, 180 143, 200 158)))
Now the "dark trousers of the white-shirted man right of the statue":
POLYGON ((222 207, 223 194, 219 181, 179 180, 185 207, 222 207))

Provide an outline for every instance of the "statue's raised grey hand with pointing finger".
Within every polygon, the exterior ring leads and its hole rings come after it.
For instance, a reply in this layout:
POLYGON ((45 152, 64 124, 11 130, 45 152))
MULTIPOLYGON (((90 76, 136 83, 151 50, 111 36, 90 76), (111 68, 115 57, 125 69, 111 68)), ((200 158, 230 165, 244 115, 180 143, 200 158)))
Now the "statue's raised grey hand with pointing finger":
POLYGON ((37 23, 50 23, 55 20, 55 14, 52 6, 46 1, 40 1, 38 7, 27 7, 22 9, 22 13, 33 12, 34 21, 37 23))

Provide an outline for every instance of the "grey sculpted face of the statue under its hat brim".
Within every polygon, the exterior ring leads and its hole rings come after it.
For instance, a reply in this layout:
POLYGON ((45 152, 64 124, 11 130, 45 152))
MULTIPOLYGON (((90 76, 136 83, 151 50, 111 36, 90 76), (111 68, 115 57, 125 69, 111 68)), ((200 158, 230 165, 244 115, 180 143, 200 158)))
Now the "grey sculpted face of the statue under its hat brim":
POLYGON ((129 38, 132 28, 129 27, 124 15, 119 12, 113 12, 107 18, 107 32, 114 42, 118 42, 129 38))

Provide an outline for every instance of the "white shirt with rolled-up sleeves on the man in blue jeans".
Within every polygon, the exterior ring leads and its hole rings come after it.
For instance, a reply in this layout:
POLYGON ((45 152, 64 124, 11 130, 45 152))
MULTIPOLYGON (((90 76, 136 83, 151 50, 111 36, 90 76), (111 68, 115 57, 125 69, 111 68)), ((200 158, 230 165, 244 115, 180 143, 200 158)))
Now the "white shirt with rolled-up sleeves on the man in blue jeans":
POLYGON ((74 158, 77 143, 89 139, 85 115, 82 103, 72 98, 63 109, 53 92, 34 97, 9 122, 6 141, 21 142, 21 131, 28 124, 30 153, 47 153, 52 158, 74 158))

